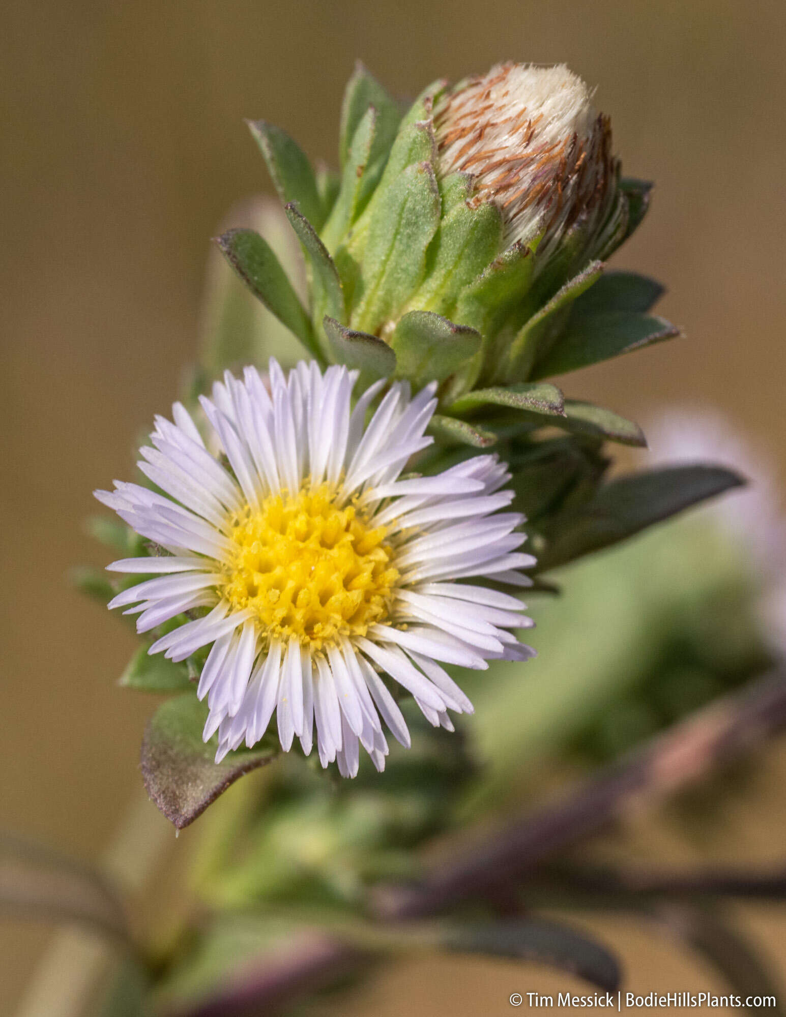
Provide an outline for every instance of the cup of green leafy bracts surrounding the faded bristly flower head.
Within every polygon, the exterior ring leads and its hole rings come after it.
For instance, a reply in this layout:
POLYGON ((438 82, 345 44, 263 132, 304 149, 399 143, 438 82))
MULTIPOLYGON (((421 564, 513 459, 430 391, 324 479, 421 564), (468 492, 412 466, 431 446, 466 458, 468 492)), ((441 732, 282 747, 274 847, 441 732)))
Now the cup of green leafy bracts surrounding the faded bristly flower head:
MULTIPOLYGON (((558 228, 551 212, 551 219, 537 210, 527 215, 527 194, 514 194, 518 205, 510 206, 507 191, 489 185, 487 171, 498 153, 478 166, 476 176, 446 172, 452 164, 441 149, 453 134, 445 111, 483 80, 452 89, 437 81, 402 116, 358 65, 341 111, 337 178, 315 173, 280 128, 249 124, 302 247, 307 308, 261 237, 241 230, 218 240, 246 286, 313 356, 358 367, 369 380, 395 376, 414 387, 438 381, 439 426, 452 441, 472 445, 491 443, 479 434, 485 418, 498 420, 501 407, 530 409, 517 401, 521 384, 677 335, 648 313, 662 293, 657 283, 607 273, 600 260, 639 225, 650 190, 620 179, 604 118, 587 120, 603 149, 596 145, 596 153, 587 140, 582 159, 574 158, 579 167, 582 160, 605 160, 595 167, 594 196, 563 208, 558 228), (511 240, 511 230, 522 235, 511 240), (492 388, 493 399, 470 395, 492 388)), ((590 117, 583 109, 579 114, 590 117)), ((459 124, 467 116, 462 109, 459 124)), ((459 133, 468 129, 460 126, 459 133)), ((518 157, 503 154, 497 162, 511 158, 518 157)), ((516 172, 526 183, 522 165, 516 172)), ((553 174, 567 172, 555 166, 553 174)), ((580 175, 570 172, 566 194, 580 175)), ((509 191, 509 177, 506 186, 509 191)), ((608 415, 584 413, 590 417, 592 423, 576 430, 603 433, 608 415)), ((527 429, 534 422, 521 418, 527 429)), ((607 436, 635 443, 635 434, 628 426, 620 437, 612 426, 607 436)))

